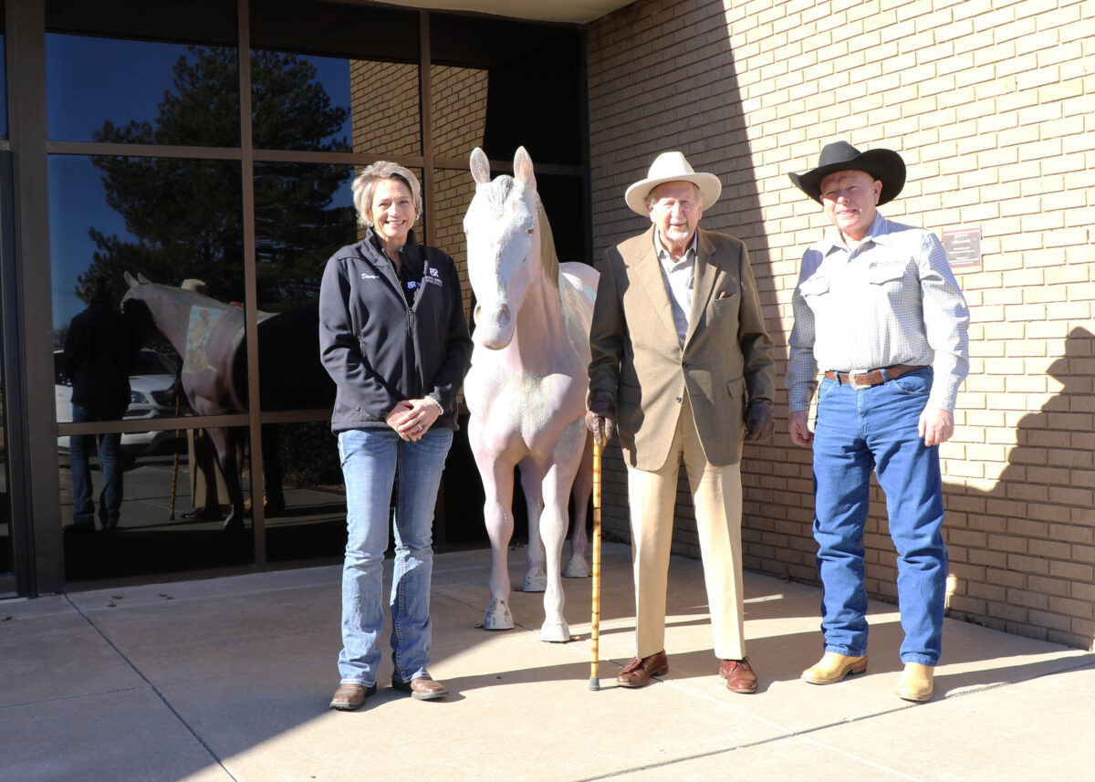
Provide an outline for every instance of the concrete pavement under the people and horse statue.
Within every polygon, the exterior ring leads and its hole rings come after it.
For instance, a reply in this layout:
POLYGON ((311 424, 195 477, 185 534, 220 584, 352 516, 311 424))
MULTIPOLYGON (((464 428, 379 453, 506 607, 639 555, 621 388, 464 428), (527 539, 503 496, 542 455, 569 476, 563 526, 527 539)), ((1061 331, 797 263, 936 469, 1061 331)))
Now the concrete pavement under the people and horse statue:
POLYGON ((476 626, 488 567, 488 551, 435 563, 431 672, 453 694, 391 690, 385 652, 353 713, 327 710, 339 567, 0 601, 0 781, 1095 779, 1095 655, 948 620, 935 700, 914 705, 894 694, 896 607, 872 603, 867 674, 816 687, 798 675, 820 654, 819 590, 747 573, 761 687, 736 695, 716 676, 701 565, 673 557, 670 672, 623 690, 631 554, 607 544, 593 692, 590 580, 564 584, 575 640, 545 644, 541 595, 512 596, 515 630, 476 626))

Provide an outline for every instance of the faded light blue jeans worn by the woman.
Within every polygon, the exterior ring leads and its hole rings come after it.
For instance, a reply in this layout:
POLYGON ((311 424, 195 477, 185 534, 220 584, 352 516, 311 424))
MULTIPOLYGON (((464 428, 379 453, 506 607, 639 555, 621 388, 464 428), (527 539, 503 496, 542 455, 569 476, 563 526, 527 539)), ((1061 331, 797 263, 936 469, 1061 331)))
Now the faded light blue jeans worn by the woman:
POLYGON ((377 682, 384 628, 381 575, 388 548, 389 510, 394 506, 395 563, 392 612, 392 678, 429 676, 430 575, 434 570, 434 505, 452 430, 429 429, 417 442, 393 429, 353 429, 338 435, 346 481, 346 560, 343 564, 344 685, 377 682), (394 498, 392 487, 395 487, 394 498))

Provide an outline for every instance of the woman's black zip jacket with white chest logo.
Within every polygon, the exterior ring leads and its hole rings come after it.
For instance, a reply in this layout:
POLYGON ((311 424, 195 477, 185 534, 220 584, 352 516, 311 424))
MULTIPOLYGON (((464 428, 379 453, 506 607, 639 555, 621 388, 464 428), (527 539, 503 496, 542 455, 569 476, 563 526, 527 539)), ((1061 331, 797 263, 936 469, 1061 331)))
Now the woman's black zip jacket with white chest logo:
POLYGON ((323 271, 320 357, 337 387, 334 433, 387 427, 396 404, 427 395, 445 411, 435 426, 459 428, 457 392, 471 365, 472 340, 456 264, 418 244, 414 231, 400 258, 422 273, 411 307, 371 228, 323 271))

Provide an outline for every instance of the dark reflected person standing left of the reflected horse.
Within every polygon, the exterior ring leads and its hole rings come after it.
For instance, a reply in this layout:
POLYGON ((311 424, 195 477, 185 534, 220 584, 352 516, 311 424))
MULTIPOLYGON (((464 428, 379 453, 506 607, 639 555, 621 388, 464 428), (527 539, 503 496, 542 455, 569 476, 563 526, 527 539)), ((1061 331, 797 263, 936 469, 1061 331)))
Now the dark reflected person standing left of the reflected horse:
MULTIPOLYGON (((90 273, 83 284, 82 298, 89 304, 69 323, 64 349, 65 373, 72 383, 72 423, 119 421, 129 406, 129 371, 137 352, 134 332, 118 308, 111 303, 106 275, 90 273)), ((122 435, 72 435, 69 437, 69 464, 74 509, 72 524, 66 528, 70 531, 95 530, 89 459, 96 439, 103 472, 99 521, 104 530, 118 526, 123 491, 122 435)))

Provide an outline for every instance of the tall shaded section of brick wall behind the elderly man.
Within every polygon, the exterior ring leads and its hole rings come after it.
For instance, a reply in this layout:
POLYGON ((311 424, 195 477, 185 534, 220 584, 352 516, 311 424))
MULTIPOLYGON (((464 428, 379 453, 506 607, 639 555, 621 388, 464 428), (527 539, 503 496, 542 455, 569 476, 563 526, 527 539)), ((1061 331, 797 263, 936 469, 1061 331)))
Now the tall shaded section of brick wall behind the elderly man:
MULTIPOLYGON (((726 24, 721 3, 678 2, 670 7, 664 0, 639 0, 588 25, 595 255, 603 257, 608 248, 649 227, 649 220, 626 207, 623 196, 631 183, 646 176, 659 152, 680 150, 694 169, 716 174, 723 193, 704 209, 700 226, 746 243, 774 343, 779 379, 786 360, 786 335, 726 24), (669 45, 678 41, 688 45, 669 45)), ((785 400, 781 382, 777 396, 785 400)), ((785 410, 779 398, 776 403, 785 410)), ((779 450, 794 448, 788 442, 779 450)), ((742 470, 752 471, 744 474, 747 508, 771 504, 772 487, 762 485, 760 475, 769 471, 769 461, 787 459, 771 444, 747 447, 742 470)), ((629 540, 626 472, 619 445, 606 453, 604 481, 606 531, 629 540)), ((695 555, 693 514, 683 476, 678 496, 673 551, 695 555)), ((746 519, 747 525, 756 521, 746 519)), ((766 520, 761 521, 764 524, 766 520)), ((747 542, 747 559, 749 547, 747 542)))

